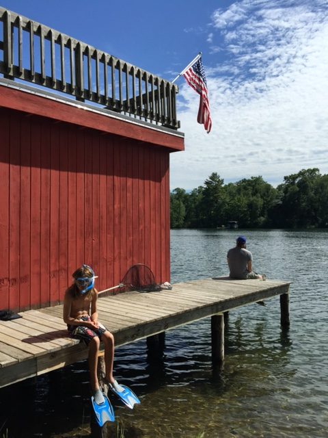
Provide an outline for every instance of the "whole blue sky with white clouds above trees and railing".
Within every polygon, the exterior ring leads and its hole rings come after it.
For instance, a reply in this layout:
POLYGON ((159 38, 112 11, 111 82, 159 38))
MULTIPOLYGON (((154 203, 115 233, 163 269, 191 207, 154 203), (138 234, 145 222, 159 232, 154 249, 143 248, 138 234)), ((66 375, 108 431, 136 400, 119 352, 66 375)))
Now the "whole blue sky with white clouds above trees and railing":
POLYGON ((318 167, 328 173, 328 0, 0 0, 165 79, 203 53, 213 119, 178 79, 185 151, 171 155, 171 188, 217 172, 226 183, 318 167))

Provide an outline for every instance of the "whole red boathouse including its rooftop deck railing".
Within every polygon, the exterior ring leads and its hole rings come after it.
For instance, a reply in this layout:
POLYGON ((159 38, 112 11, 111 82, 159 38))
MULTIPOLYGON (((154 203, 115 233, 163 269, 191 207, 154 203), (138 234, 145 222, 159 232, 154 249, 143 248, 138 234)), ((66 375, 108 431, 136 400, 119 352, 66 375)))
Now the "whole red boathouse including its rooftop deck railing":
POLYGON ((82 263, 99 290, 136 263, 169 281, 176 86, 1 7, 0 23, 0 309, 59 304, 82 263))

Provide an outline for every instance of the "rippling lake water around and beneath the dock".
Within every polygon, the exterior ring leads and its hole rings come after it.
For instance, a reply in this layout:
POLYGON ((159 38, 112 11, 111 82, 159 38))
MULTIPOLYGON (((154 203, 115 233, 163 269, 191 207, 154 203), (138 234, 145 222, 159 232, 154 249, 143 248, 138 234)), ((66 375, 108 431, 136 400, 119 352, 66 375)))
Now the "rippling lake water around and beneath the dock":
MULTIPOLYGON (((168 331, 161 361, 148 359, 144 341, 118 348, 115 375, 141 405, 117 407, 106 436, 328 436, 328 230, 174 230, 172 283, 227 274, 238 233, 256 272, 292 281, 289 331, 276 297, 230 312, 221 371, 210 362, 210 318, 168 331)), ((90 430, 85 362, 2 389, 0 408, 1 438, 101 436, 90 430)))

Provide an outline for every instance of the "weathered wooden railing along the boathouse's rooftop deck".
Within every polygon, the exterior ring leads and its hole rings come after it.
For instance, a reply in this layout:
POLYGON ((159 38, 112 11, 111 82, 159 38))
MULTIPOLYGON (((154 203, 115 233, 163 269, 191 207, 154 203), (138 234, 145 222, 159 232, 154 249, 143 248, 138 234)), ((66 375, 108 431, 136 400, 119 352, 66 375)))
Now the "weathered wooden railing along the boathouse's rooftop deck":
POLYGON ((0 73, 140 120, 180 127, 176 85, 1 7, 0 73))

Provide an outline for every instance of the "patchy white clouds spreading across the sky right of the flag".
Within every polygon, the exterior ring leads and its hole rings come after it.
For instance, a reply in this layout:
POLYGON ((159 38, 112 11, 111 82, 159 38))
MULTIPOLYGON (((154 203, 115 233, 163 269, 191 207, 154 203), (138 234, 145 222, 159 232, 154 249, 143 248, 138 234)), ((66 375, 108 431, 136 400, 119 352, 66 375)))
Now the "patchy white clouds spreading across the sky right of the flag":
POLYGON ((209 43, 222 61, 205 65, 213 129, 197 124, 197 94, 182 83, 186 151, 172 154, 172 188, 195 188, 211 172, 271 183, 301 168, 328 173, 327 12, 326 0, 243 0, 215 11, 209 43))

